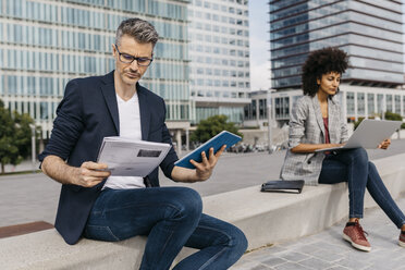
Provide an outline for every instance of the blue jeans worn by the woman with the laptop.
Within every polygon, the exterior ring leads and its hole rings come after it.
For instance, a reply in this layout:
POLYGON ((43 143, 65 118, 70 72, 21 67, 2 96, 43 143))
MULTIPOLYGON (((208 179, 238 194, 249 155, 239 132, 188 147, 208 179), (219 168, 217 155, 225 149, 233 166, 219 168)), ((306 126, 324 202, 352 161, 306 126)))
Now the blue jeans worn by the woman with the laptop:
POLYGON ((322 162, 318 182, 321 184, 347 182, 349 218, 363 218, 367 187, 371 197, 398 229, 405 223, 404 213, 386 191, 376 165, 368 160, 364 148, 328 155, 322 162))

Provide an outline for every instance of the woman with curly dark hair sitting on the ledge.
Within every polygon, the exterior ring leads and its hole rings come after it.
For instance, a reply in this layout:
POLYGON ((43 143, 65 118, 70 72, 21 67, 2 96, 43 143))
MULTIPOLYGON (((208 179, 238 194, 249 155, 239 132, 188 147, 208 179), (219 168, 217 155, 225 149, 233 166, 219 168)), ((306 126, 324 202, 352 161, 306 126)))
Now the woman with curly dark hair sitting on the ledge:
MULTIPOLYGON (((359 219, 363 218, 366 187, 371 197, 401 229, 398 244, 405 247, 405 217, 386 191, 376 165, 365 149, 355 148, 332 152, 317 149, 344 145, 347 140, 346 121, 335 95, 341 75, 347 69, 347 54, 336 48, 323 48, 309 54, 303 66, 304 97, 295 103, 290 119, 289 148, 281 177, 304 179, 317 185, 348 183, 349 220, 343 238, 355 248, 371 249, 359 219)), ((386 149, 390 139, 379 148, 386 149)))

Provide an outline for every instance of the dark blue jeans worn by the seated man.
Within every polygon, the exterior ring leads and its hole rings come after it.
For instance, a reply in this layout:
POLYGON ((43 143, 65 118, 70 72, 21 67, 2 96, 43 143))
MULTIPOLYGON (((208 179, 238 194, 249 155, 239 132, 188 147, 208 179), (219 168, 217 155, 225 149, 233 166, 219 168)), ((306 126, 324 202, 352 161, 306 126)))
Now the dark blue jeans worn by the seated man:
POLYGON ((115 242, 148 235, 140 269, 169 269, 183 246, 200 250, 173 269, 228 269, 245 253, 246 237, 201 210, 199 194, 187 187, 106 188, 84 236, 115 242))

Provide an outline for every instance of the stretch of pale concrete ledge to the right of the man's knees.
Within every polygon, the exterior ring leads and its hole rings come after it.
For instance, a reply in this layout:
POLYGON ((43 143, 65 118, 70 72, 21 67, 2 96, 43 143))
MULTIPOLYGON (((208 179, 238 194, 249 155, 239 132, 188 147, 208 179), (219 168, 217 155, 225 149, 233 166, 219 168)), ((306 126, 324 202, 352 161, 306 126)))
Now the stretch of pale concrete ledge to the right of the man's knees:
MULTIPOLYGON (((405 154, 375 160, 393 198, 405 192, 405 154)), ((259 186, 205 198, 205 212, 241 228, 249 249, 315 234, 347 217, 346 183, 305 186, 302 194, 260 193, 259 186)), ((376 207, 366 193, 365 208, 376 207)))

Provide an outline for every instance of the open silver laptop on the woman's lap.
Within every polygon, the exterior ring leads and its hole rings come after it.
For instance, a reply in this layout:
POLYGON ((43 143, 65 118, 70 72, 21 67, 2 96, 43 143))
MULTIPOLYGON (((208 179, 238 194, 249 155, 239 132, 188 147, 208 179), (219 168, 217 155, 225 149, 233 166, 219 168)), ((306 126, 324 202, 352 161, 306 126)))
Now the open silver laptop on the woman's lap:
POLYGON ((390 138, 391 135, 401 127, 401 121, 365 119, 344 146, 323 148, 315 151, 331 151, 359 147, 367 149, 377 148, 382 140, 390 138))

